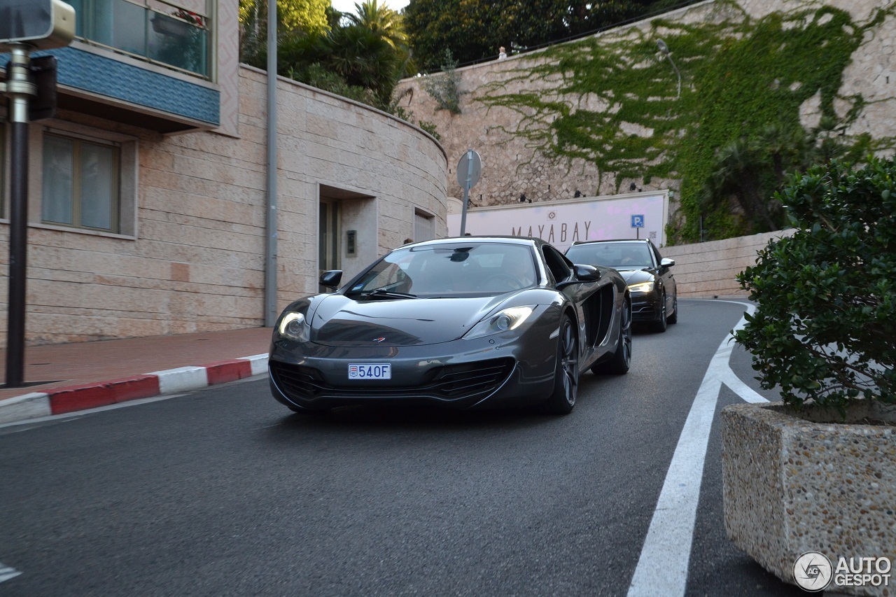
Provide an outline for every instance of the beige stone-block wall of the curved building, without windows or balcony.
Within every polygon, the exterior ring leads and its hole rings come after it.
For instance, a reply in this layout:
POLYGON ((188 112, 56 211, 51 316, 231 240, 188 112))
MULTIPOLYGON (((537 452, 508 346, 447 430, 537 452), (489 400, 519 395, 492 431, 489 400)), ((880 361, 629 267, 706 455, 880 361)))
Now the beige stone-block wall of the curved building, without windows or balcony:
MULTIPOLYGON (((365 205, 359 210, 358 256, 356 263, 346 264, 347 274, 412 238, 416 209, 433 214, 436 234, 445 235, 447 163, 432 137, 372 108, 286 79, 280 79, 278 93, 280 308, 318 290, 317 210, 323 188, 350 192, 365 205)), ((214 133, 162 137, 73 113, 60 116, 138 139, 136 234, 128 238, 31 226, 27 341, 263 325, 266 75, 240 68, 237 138, 214 133)), ((30 220, 39 218, 40 210, 32 207, 30 220)), ((8 224, 0 221, 0 246, 7 247, 8 234, 8 224)), ((0 251, 4 277, 8 255, 0 251)), ((2 329, 7 296, 3 283, 2 329)), ((5 341, 0 333, 0 345, 5 341)))

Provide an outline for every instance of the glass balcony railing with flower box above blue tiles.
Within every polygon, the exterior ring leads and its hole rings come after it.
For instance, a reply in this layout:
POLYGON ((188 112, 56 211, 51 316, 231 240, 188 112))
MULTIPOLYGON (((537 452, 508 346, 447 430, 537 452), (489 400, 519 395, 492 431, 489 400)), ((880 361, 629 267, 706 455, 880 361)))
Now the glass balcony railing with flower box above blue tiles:
MULTIPOLYGON (((151 63, 211 79, 211 19, 162 0, 65 0, 76 35, 151 63)), ((206 3, 208 5, 209 3, 206 3)))

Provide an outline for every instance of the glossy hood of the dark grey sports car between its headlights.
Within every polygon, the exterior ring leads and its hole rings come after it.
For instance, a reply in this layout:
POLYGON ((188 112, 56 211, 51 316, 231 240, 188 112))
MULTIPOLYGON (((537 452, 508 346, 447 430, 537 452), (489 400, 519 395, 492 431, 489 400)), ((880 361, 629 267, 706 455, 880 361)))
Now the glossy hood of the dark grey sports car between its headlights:
POLYGON ((328 346, 415 346, 461 338, 507 295, 470 299, 323 299, 311 318, 311 341, 328 346))

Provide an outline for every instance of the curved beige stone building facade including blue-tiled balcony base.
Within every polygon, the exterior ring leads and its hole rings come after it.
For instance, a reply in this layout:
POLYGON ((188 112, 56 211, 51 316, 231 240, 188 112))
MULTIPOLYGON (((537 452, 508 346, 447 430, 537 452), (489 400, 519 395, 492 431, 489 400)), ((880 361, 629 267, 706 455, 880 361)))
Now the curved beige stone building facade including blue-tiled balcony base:
MULTIPOLYGON (((202 3, 194 4, 199 10, 202 3)), ((56 118, 30 124, 29 344, 264 324, 267 75, 237 64, 237 0, 213 2, 212 9, 209 18, 218 19, 220 28, 219 64, 210 69, 217 78, 146 65, 139 56, 93 47, 87 39, 58 56, 60 65, 116 61, 132 69, 138 88, 158 76, 193 85, 213 109, 203 120, 151 105, 153 98, 134 107, 134 98, 108 95, 124 93, 125 82, 110 83, 112 91, 85 90, 78 85, 95 81, 66 79, 61 69, 56 118), (117 202, 108 229, 57 223, 62 218, 42 204, 52 198, 48 186, 61 186, 47 174, 56 168, 59 143, 82 148, 85 156, 114 148, 107 152, 115 156, 108 163, 116 168, 117 202)), ((277 94, 278 309, 317 292, 322 268, 350 276, 408 238, 444 236, 447 161, 433 137, 288 79, 279 78, 277 94)), ((179 100, 191 108, 189 94, 179 100)), ((2 133, 5 117, 0 108, 2 133)), ((79 168, 87 171, 91 160, 79 168)), ((82 185, 95 179, 82 177, 82 185)), ((82 205, 82 218, 88 208, 82 205)), ((8 313, 8 239, 9 220, 0 219, 0 329, 8 313)), ((0 344, 5 341, 0 333, 0 344)))

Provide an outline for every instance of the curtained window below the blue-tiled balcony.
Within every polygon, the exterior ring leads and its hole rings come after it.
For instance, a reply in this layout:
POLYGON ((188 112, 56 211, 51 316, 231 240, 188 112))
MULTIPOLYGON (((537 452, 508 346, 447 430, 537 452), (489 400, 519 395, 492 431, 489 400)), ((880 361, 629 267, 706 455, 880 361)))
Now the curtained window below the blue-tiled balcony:
POLYGON ((120 164, 116 143, 44 134, 41 221, 118 232, 120 164))

